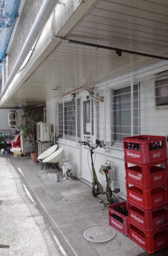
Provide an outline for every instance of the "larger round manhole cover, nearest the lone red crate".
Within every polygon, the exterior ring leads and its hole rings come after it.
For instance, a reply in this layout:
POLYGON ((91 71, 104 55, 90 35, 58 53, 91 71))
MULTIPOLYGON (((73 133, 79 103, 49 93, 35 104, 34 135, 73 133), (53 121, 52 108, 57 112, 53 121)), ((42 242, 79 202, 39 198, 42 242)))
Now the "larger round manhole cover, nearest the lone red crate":
POLYGON ((102 243, 113 239, 116 236, 116 231, 108 226, 96 226, 87 229, 83 233, 83 237, 91 242, 102 243))

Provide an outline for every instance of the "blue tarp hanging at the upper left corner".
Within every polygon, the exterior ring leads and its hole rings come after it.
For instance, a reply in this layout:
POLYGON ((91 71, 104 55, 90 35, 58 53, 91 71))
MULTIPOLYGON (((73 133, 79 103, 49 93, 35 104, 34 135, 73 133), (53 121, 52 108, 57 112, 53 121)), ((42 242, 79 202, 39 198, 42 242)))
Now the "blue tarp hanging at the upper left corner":
MULTIPOLYGON (((0 63, 6 56, 8 44, 18 16, 20 0, 0 0, 0 63)), ((0 70, 2 65, 0 65, 0 70)))

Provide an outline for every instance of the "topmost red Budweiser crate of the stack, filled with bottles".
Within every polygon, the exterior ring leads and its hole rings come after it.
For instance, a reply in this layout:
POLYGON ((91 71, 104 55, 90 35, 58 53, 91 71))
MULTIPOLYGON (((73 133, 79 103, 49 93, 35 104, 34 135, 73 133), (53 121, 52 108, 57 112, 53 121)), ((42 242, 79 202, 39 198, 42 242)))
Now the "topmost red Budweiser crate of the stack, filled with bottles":
POLYGON ((123 139, 125 160, 145 164, 166 159, 166 139, 163 136, 139 135, 123 139), (151 144, 156 148, 149 150, 151 144), (161 148, 157 148, 160 145, 161 148), (129 148, 131 147, 131 148, 129 148), (135 150, 135 148, 137 148, 135 150))

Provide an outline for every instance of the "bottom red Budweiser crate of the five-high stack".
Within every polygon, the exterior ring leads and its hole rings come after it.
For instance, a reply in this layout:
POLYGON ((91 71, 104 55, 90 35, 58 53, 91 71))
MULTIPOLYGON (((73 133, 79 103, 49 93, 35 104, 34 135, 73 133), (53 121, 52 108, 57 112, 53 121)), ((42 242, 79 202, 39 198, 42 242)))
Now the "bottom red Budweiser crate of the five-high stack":
POLYGON ((168 228, 144 232, 136 226, 129 225, 129 237, 148 253, 154 253, 168 246, 168 228))

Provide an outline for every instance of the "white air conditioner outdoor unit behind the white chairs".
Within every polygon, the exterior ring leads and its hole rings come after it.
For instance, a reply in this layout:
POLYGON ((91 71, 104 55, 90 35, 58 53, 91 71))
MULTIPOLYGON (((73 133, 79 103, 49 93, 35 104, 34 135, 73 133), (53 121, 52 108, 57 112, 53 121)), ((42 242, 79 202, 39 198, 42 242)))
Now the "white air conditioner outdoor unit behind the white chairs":
POLYGON ((51 124, 50 123, 37 123, 37 140, 50 141, 51 140, 51 124))

